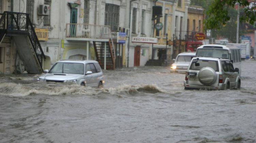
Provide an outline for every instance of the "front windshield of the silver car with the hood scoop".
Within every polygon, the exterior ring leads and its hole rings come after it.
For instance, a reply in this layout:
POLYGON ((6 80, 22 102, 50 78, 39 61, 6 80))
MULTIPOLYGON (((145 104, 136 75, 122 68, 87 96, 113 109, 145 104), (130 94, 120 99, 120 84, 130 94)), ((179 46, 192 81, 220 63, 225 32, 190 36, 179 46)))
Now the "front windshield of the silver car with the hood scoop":
POLYGON ((82 63, 58 62, 50 69, 49 73, 84 74, 85 66, 82 63))

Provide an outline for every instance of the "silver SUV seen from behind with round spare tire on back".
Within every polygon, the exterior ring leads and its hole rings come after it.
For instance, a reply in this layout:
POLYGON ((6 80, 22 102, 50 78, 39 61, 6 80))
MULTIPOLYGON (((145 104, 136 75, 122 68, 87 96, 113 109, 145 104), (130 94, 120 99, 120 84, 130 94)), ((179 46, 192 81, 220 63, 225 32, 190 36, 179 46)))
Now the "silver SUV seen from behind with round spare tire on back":
POLYGON ((240 88, 239 69, 228 59, 194 57, 186 71, 185 89, 225 90, 240 88))

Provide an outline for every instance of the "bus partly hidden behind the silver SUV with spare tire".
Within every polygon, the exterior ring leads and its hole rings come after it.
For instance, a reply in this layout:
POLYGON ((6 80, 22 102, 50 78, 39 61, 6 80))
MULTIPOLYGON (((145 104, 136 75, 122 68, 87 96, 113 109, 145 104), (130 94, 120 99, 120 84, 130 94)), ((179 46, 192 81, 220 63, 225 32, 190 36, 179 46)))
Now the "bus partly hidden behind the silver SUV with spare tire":
POLYGON ((217 44, 201 45, 196 49, 196 57, 216 57, 225 58, 233 62, 234 68, 239 68, 241 76, 241 53, 240 49, 234 46, 225 46, 217 44))

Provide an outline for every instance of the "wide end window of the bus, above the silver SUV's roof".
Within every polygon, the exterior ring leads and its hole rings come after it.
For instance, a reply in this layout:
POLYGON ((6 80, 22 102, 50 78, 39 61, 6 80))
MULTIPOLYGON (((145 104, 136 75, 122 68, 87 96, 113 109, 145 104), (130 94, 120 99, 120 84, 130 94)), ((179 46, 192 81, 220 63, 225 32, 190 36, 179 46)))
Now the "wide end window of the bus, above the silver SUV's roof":
POLYGON ((217 49, 217 48, 198 48, 196 51, 196 56, 202 57, 217 57, 217 58, 227 58, 229 59, 227 49, 217 49))

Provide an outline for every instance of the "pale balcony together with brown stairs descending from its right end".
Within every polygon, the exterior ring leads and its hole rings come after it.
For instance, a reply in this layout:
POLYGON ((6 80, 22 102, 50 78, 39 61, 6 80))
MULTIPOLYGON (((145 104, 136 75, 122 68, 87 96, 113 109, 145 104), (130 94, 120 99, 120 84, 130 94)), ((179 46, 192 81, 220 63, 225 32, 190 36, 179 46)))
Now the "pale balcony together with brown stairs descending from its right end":
POLYGON ((115 69, 115 49, 110 26, 69 23, 66 29, 68 41, 92 41, 101 68, 115 69))

